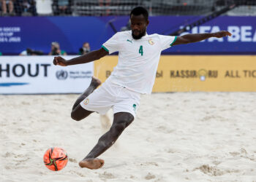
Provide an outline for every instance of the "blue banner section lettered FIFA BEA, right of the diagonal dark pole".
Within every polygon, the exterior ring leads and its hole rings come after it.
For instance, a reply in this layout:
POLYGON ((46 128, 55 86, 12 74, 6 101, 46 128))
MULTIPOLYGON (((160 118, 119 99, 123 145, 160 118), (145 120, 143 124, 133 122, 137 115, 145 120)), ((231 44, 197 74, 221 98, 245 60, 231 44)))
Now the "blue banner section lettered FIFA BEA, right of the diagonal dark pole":
POLYGON ((178 45, 165 52, 185 52, 195 55, 197 53, 210 54, 256 54, 256 17, 228 17, 221 16, 181 33, 214 33, 217 31, 230 31, 232 36, 223 38, 210 38, 197 43, 178 45))

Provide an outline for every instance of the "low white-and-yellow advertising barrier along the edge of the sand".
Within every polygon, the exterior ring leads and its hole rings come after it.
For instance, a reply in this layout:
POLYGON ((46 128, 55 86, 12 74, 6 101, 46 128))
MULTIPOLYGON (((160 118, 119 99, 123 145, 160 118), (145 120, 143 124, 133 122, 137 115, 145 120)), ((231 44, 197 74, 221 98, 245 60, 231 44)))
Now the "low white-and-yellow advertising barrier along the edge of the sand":
MULTIPOLYGON (((118 57, 67 67, 53 66, 52 60, 52 56, 0 57, 0 93, 80 93, 92 75, 104 82, 118 57)), ((162 55, 153 92, 255 92, 255 60, 255 55, 162 55)))

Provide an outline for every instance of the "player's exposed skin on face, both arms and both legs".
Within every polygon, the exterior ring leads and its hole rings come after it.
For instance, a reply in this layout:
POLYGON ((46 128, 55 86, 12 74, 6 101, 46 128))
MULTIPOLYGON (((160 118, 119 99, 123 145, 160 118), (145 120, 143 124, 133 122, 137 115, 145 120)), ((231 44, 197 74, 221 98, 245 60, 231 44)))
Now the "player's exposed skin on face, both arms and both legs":
MULTIPOLYGON (((143 15, 131 15, 131 28, 132 28, 132 37, 133 39, 140 39, 142 36, 146 35, 146 28, 149 21, 145 19, 143 15)), ((193 33, 187 34, 184 36, 178 36, 173 45, 178 44, 189 44, 192 42, 202 41, 211 37, 221 38, 224 36, 231 36, 231 33, 228 31, 218 31, 216 33, 193 33)), ((59 66, 70 66, 83 63, 89 63, 94 60, 99 60, 100 58, 108 55, 108 52, 103 48, 87 53, 86 55, 81 55, 78 58, 73 58, 71 60, 64 60, 61 57, 55 57, 53 60, 54 65, 59 66)), ((100 80, 94 76, 91 79, 91 84, 85 92, 75 101, 74 106, 72 107, 71 117, 76 121, 89 116, 92 111, 87 111, 80 106, 80 102, 88 97, 98 86, 101 84, 100 80)), ((80 167, 87 167, 89 169, 98 169, 104 165, 104 160, 98 159, 97 157, 105 152, 113 143, 116 142, 119 135, 124 131, 129 124, 132 123, 134 117, 132 114, 127 112, 120 112, 114 114, 113 124, 110 127, 110 130, 106 132, 99 138, 98 143, 94 148, 89 152, 89 154, 79 162, 80 167)))

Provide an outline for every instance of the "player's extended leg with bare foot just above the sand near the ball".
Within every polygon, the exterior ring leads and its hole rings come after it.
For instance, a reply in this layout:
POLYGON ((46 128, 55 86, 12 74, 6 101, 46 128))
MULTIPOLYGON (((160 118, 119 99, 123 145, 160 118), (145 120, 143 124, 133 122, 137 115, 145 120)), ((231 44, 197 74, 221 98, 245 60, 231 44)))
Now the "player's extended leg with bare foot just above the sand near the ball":
POLYGON ((113 124, 110 130, 99 138, 98 143, 94 149, 79 162, 80 167, 87 167, 89 169, 98 169, 104 165, 104 160, 97 159, 100 154, 110 148, 116 142, 118 137, 129 124, 134 120, 134 116, 127 112, 119 112, 114 114, 113 124))

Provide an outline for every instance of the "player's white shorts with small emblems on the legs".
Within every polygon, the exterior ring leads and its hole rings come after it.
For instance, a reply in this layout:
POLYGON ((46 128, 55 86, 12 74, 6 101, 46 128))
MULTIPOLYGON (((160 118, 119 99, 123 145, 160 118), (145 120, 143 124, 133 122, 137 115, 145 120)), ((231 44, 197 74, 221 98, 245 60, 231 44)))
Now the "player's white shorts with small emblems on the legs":
POLYGON ((80 106, 88 111, 106 114, 113 108, 113 114, 128 112, 134 117, 140 105, 140 93, 128 90, 118 84, 107 81, 97 90, 94 90, 80 106))

